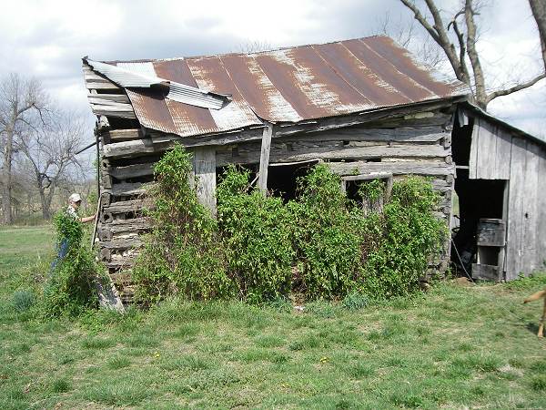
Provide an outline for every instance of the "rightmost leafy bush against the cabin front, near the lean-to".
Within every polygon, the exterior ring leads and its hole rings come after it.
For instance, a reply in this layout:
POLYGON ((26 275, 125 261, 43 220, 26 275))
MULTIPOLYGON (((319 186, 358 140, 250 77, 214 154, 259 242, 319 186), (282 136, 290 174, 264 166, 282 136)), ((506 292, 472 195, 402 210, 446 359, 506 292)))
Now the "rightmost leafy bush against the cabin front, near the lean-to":
POLYGON ((447 232, 433 214, 438 201, 439 194, 426 179, 411 177, 393 184, 383 212, 362 224, 363 292, 388 298, 419 290, 419 279, 430 257, 441 251, 447 232))

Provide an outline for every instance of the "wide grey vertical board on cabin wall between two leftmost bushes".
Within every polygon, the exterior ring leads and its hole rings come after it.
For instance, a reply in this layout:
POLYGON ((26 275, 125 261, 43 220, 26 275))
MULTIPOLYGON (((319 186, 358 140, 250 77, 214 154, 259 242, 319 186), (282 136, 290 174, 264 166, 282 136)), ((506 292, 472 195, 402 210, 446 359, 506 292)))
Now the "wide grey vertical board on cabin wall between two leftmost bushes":
POLYGON ((197 199, 216 216, 216 149, 199 147, 194 150, 194 174, 197 179, 197 199))

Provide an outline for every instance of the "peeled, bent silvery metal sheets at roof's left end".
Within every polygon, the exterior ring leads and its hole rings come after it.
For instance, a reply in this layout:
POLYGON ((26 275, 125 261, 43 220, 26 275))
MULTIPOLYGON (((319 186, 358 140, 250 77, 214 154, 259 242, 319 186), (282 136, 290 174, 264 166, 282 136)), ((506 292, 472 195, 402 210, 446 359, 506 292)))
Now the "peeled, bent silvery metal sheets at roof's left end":
POLYGON ((112 64, 94 61, 87 56, 83 57, 82 61, 120 87, 151 88, 152 86, 164 86, 168 89, 166 98, 200 108, 221 109, 231 101, 231 96, 227 94, 205 91, 157 76, 147 76, 126 67, 117 67, 112 64))

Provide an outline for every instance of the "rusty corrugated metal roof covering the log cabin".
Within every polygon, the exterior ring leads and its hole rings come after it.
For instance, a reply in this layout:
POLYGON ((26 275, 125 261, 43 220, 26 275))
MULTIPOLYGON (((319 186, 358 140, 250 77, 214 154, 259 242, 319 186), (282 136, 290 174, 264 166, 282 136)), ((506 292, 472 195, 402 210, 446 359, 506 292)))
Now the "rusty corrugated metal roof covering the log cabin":
POLYGON ((128 88, 140 123, 182 137, 352 113, 470 93, 423 67, 387 36, 250 54, 112 62, 206 92, 231 95, 220 109, 199 108, 128 88), (144 69, 145 67, 143 67, 144 69))

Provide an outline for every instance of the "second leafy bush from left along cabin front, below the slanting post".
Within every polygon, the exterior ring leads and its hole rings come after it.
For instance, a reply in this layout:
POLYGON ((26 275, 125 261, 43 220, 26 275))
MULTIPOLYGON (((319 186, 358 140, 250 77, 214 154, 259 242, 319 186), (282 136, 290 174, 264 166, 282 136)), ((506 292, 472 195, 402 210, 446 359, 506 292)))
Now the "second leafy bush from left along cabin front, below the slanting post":
POLYGON ((249 172, 228 167, 218 185, 218 224, 229 275, 248 302, 287 295, 294 251, 291 219, 279 198, 247 192, 249 172))

